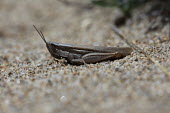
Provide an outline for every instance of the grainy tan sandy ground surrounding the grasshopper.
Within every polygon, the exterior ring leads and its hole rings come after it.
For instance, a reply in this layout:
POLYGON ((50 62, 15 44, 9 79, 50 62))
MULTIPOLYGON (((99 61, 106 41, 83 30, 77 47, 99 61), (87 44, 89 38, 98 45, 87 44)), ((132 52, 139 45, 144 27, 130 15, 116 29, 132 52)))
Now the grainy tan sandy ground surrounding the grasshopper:
MULTIPOLYGON (((123 59, 87 66, 72 66, 50 56, 33 24, 48 41, 128 46, 110 30, 119 11, 89 8, 88 2, 0 1, 0 113, 170 111, 170 82, 143 54, 133 52, 123 59)), ((168 25, 145 35, 150 22, 141 9, 120 29, 170 71, 170 44, 161 42, 168 39, 168 25)))

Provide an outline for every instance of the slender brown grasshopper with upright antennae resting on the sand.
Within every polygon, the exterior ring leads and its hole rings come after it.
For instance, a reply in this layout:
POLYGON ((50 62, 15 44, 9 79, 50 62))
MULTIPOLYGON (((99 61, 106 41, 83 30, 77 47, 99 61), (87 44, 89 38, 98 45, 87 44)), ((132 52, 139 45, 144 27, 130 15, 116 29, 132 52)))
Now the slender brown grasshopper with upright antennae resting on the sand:
POLYGON ((43 33, 35 26, 34 28, 45 42, 51 56, 57 59, 65 58, 67 62, 72 65, 83 65, 106 60, 120 59, 130 55, 133 51, 130 47, 75 46, 47 42, 43 33))

